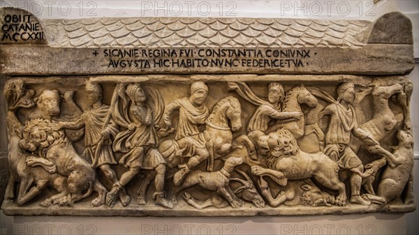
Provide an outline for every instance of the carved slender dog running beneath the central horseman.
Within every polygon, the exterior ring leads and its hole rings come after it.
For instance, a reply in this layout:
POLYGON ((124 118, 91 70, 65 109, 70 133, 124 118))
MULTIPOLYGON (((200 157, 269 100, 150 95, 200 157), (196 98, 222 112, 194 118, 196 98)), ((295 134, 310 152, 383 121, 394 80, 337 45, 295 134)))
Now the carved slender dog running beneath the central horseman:
POLYGON ((191 188, 194 185, 200 185, 201 187, 216 191, 223 196, 233 208, 243 206, 244 202, 237 198, 234 192, 231 190, 230 174, 233 172, 234 167, 243 163, 242 158, 230 157, 224 162, 224 166, 217 172, 203 172, 195 170, 190 172, 184 179, 184 183, 175 188, 172 192, 172 200, 176 203, 176 197, 179 192, 186 188, 191 188))

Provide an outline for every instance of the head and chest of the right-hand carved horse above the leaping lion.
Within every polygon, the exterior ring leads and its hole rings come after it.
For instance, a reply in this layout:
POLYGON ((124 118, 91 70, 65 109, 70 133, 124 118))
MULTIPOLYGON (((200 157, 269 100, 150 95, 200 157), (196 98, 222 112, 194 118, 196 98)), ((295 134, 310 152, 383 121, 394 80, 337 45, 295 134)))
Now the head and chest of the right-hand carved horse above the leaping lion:
MULTIPOLYGON (((302 112, 302 105, 314 108, 317 104, 316 97, 314 97, 303 84, 300 84, 285 93, 282 112, 302 112)), ((268 128, 266 133, 276 131, 279 128, 289 130, 293 133, 295 139, 298 139, 304 135, 304 119, 286 123, 283 123, 283 121, 277 121, 277 123, 268 128)))

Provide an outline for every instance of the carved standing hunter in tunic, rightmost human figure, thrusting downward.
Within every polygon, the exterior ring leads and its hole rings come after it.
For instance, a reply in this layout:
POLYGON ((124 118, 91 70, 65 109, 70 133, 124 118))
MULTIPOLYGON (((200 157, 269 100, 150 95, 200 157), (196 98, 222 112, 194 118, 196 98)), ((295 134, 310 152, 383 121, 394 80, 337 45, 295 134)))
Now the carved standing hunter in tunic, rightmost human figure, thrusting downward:
POLYGON ((372 134, 362 130, 357 123, 355 109, 352 105, 355 99, 355 86, 346 82, 337 88, 338 98, 335 103, 325 107, 320 116, 330 115, 328 131, 325 135, 325 149, 323 152, 337 162, 341 169, 348 169, 351 173, 351 199, 352 203, 368 205, 371 202, 363 199, 360 195, 362 178, 372 174, 372 171, 364 172, 361 160, 353 152, 349 143, 351 133, 359 137, 368 146, 368 151, 385 156, 390 165, 396 164, 396 158, 392 153, 383 149, 374 139, 372 134))

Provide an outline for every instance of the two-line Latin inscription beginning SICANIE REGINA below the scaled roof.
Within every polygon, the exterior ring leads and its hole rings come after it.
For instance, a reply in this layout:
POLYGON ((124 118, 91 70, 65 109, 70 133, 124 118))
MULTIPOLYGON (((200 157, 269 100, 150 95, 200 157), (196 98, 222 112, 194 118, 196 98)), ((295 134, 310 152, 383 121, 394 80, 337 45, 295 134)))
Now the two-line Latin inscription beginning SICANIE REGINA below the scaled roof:
POLYGON ((306 49, 104 49, 108 68, 304 68, 306 49))

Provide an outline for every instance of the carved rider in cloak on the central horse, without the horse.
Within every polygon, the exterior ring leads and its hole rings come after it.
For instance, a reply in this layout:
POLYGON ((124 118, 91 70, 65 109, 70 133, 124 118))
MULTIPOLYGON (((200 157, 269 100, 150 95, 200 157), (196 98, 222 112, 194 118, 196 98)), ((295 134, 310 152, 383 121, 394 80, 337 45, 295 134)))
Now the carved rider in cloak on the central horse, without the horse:
POLYGON ((205 124, 210 114, 204 105, 208 95, 208 86, 204 82, 191 84, 191 96, 179 98, 166 106, 163 120, 167 130, 172 128, 172 113, 179 110, 179 123, 175 133, 176 156, 190 157, 188 162, 179 165, 179 171, 173 176, 175 185, 180 185, 186 174, 210 158, 207 170, 212 171, 212 141, 207 132, 200 132, 198 126, 205 124))

